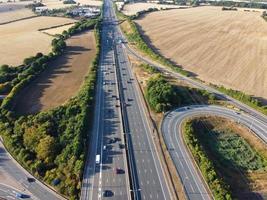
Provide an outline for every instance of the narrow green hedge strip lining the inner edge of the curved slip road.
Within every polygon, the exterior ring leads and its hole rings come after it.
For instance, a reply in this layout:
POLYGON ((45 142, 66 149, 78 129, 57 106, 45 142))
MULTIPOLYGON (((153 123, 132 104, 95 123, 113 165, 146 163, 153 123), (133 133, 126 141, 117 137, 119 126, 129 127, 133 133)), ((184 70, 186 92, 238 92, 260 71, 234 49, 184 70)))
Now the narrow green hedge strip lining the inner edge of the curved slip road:
POLYGON ((191 122, 186 122, 183 126, 185 142, 193 154, 203 177, 209 185, 214 198, 217 200, 230 200, 232 195, 229 191, 229 186, 216 173, 213 163, 209 160, 203 147, 194 134, 194 129, 191 122))

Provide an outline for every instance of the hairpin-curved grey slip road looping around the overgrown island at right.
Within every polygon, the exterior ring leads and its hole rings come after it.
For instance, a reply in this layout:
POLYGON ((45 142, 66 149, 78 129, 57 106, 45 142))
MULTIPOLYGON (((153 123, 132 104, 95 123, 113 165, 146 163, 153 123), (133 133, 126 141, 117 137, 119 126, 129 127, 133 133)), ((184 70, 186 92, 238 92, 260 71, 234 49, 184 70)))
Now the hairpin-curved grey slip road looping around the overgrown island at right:
POLYGON ((181 124, 185 119, 201 115, 221 116, 234 120, 247 126, 252 130, 251 134, 255 133, 259 138, 267 142, 266 123, 262 123, 248 114, 236 112, 225 107, 195 105, 182 107, 167 113, 161 127, 163 138, 182 180, 185 194, 190 200, 211 199, 200 172, 195 168, 191 160, 181 133, 181 124))

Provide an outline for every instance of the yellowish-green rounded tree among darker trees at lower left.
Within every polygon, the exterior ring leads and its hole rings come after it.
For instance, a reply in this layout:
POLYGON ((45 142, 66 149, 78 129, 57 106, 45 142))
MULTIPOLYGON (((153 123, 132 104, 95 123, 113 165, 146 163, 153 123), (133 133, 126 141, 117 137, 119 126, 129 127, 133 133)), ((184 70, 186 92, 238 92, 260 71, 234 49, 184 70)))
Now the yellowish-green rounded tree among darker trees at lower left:
POLYGON ((56 139, 50 135, 41 139, 36 148, 37 158, 45 163, 51 163, 57 155, 56 139))

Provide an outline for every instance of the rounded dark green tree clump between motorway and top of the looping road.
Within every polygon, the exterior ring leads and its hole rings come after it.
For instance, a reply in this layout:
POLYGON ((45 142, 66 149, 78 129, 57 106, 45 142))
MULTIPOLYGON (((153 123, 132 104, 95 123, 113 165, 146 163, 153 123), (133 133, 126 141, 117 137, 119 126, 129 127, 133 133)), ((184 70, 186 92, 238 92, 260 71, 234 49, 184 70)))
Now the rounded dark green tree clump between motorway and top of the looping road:
POLYGON ((145 96, 151 108, 156 112, 165 112, 179 104, 180 101, 175 87, 160 75, 149 79, 145 96))

